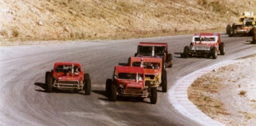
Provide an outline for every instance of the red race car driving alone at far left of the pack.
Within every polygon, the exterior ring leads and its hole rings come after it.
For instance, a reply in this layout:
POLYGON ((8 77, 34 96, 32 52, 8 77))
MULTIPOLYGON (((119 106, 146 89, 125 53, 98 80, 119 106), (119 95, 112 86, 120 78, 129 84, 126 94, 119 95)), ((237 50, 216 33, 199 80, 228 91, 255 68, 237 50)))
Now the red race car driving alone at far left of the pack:
POLYGON ((45 73, 46 91, 54 89, 83 90, 86 95, 91 93, 91 80, 84 73, 78 62, 55 62, 51 72, 45 73))

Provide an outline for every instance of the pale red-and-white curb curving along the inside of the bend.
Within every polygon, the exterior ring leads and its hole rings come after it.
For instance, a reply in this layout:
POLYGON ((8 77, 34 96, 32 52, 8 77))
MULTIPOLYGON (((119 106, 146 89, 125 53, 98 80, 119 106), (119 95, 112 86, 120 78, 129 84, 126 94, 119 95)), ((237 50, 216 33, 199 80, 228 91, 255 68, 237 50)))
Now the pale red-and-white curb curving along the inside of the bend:
POLYGON ((203 126, 226 126, 221 122, 211 119, 201 110, 199 110, 192 102, 190 102, 188 99, 187 89, 198 77, 211 72, 214 69, 218 69, 229 64, 234 64, 238 61, 239 60, 228 60, 220 62, 181 77, 181 79, 179 79, 168 91, 168 98, 173 107, 185 117, 188 117, 203 126))

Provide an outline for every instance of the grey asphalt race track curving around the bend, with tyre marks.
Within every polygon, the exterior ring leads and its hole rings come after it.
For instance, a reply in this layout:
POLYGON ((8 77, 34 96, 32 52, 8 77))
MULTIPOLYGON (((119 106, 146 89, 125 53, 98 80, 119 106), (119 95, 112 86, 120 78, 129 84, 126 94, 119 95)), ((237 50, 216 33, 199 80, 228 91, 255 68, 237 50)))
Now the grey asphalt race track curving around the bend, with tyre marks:
POLYGON ((167 42, 173 54, 173 68, 167 68, 168 89, 197 69, 256 54, 252 37, 228 37, 225 56, 182 58, 192 35, 115 41, 75 41, 67 44, 0 47, 0 125, 1 126, 200 126, 184 117, 169 102, 168 93, 158 90, 157 104, 149 99, 119 99, 105 96, 105 81, 114 65, 124 65, 134 56, 139 42, 167 42), (91 95, 84 92, 45 92, 45 72, 56 61, 76 61, 90 74, 91 95))

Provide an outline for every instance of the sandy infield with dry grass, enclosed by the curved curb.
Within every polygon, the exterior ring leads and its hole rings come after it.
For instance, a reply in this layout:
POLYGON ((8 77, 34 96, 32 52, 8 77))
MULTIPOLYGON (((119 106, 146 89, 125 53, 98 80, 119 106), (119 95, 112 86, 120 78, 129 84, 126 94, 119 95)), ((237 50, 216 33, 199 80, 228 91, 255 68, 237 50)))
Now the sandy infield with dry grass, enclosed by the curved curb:
POLYGON ((199 77, 188 98, 209 117, 228 126, 256 124, 256 56, 199 77))

